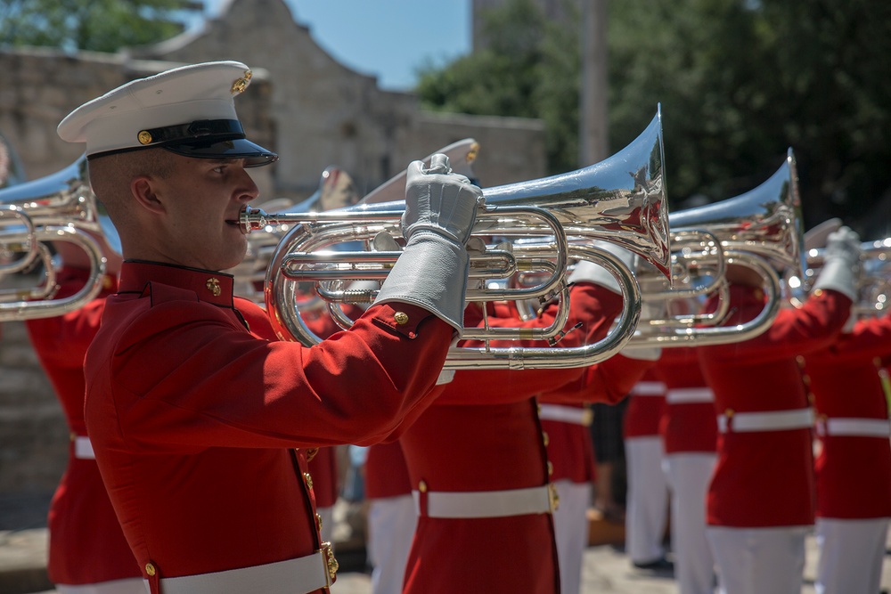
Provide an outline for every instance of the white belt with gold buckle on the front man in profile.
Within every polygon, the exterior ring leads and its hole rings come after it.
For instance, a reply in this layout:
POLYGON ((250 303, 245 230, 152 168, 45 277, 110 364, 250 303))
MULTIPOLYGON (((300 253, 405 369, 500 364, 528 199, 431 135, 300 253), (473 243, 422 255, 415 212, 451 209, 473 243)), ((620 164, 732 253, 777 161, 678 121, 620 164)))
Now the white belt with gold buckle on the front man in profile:
POLYGON ((308 594, 329 588, 337 572, 331 545, 312 555, 213 574, 160 579, 163 594, 308 594), (331 561, 333 566, 331 568, 331 561))

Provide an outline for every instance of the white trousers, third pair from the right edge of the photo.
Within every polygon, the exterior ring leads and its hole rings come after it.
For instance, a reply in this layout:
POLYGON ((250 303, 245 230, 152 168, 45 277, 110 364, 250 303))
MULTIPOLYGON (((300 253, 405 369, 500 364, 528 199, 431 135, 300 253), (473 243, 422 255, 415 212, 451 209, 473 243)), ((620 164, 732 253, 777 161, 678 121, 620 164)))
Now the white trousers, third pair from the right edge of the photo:
POLYGON ((716 460, 717 454, 708 452, 666 455, 674 579, 680 594, 715 591, 715 559, 706 538, 706 494, 716 460))

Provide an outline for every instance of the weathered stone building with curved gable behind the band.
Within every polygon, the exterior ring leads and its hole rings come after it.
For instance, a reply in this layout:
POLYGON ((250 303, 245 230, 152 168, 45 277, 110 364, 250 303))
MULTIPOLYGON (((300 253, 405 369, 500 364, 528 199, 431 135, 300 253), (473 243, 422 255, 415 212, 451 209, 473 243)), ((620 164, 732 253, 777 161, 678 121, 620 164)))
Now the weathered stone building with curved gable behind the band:
MULTIPOLYGON (((231 0, 200 31, 159 45, 116 54, 0 52, 0 133, 29 179, 50 175, 80 156, 82 147, 62 142, 55 128, 81 103, 181 63, 238 60, 255 75, 236 100, 239 117, 251 138, 281 155, 251 172, 266 198, 307 197, 331 165, 370 191, 413 159, 467 137, 480 143, 474 169, 486 185, 544 175, 541 122, 425 112, 413 94, 382 91, 374 77, 333 60, 295 17, 283 0, 231 0)), ((64 469, 68 429, 24 324, 0 328, 0 498, 50 492, 64 469)))

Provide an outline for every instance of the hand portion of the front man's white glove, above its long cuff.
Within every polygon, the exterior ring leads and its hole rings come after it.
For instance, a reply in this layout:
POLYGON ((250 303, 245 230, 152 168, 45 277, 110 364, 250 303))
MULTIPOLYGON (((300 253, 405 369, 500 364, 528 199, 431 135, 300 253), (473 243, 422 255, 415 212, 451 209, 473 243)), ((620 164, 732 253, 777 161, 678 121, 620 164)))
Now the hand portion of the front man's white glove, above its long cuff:
POLYGON ((430 158, 429 169, 424 169, 423 161, 408 166, 402 215, 405 240, 419 231, 434 232, 461 244, 470 238, 483 191, 464 175, 451 171, 448 157, 441 153, 430 158))

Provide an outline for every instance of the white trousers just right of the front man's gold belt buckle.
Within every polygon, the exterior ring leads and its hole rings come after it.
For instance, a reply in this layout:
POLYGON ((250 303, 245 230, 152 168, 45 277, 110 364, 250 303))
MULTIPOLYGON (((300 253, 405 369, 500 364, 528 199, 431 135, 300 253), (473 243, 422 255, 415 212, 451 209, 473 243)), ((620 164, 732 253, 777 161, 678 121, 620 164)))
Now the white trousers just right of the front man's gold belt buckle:
POLYGON ((400 594, 418 515, 411 494, 369 500, 368 561, 372 594, 400 594))

